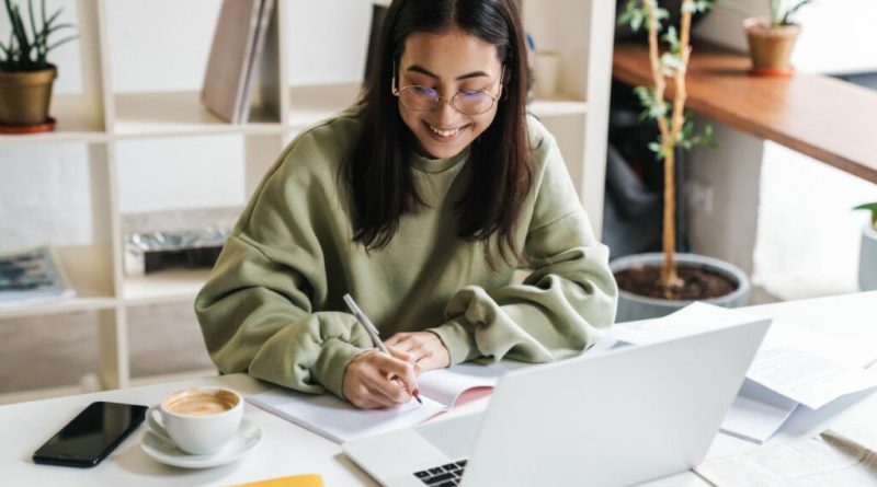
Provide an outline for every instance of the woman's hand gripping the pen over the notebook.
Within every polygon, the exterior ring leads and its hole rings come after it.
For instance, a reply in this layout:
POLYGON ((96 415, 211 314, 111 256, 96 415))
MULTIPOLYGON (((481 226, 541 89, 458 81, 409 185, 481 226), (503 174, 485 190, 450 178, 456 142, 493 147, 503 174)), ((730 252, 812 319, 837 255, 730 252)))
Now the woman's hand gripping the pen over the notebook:
POLYGON ((407 355, 389 356, 372 349, 350 362, 341 393, 358 408, 378 409, 408 403, 417 386, 414 364, 407 355))

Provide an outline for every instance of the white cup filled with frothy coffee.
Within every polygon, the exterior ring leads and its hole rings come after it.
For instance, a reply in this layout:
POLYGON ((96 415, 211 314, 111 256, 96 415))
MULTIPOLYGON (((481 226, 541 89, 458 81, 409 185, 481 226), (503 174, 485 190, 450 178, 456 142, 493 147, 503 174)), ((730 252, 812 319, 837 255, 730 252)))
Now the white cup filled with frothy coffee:
POLYGON ((243 398, 225 387, 190 387, 176 391, 146 413, 156 434, 180 450, 207 455, 218 452, 238 431, 243 398))

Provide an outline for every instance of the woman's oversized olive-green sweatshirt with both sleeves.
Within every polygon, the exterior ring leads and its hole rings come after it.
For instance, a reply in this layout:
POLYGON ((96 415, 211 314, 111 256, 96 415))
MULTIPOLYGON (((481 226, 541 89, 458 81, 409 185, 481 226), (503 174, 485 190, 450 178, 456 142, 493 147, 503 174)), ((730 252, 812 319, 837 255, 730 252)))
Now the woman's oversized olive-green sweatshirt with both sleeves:
MULTIPOLYGON (((223 372, 338 396, 348 364, 373 348, 342 295, 350 292, 387 339, 436 333, 457 363, 477 357, 544 362, 578 353, 613 323, 617 288, 554 137, 535 118, 532 193, 516 242, 532 270, 457 236, 454 205, 468 151, 411 155, 429 204, 399 221, 390 243, 352 241, 339 164, 360 132, 353 107, 300 134, 265 175, 195 300, 204 340, 223 372)), ((496 247, 496 245, 492 245, 496 247)))

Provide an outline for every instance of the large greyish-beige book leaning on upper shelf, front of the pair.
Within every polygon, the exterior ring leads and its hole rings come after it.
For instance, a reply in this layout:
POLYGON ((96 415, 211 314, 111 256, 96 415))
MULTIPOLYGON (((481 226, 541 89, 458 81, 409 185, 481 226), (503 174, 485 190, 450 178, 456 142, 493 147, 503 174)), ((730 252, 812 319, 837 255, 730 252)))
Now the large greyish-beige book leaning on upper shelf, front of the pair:
POLYGON ((240 123, 263 0, 223 0, 201 101, 225 121, 240 123))

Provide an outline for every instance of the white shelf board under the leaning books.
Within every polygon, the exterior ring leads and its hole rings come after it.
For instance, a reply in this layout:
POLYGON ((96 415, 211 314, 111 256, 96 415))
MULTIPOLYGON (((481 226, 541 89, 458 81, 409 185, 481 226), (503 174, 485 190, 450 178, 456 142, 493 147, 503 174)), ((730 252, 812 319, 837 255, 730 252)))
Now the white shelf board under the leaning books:
POLYGON ((278 121, 253 109, 253 121, 228 124, 201 104, 198 92, 126 93, 115 96, 117 137, 161 137, 213 134, 281 134, 278 121))

